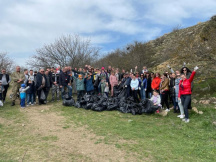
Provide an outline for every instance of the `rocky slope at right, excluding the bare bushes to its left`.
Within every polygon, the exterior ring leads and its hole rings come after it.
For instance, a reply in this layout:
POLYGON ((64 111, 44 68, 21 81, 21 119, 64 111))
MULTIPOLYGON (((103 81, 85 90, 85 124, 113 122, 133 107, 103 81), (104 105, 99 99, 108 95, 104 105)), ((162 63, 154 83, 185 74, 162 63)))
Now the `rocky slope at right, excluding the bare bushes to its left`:
POLYGON ((174 30, 147 44, 156 51, 153 71, 165 71, 167 64, 179 69, 186 62, 191 69, 195 65, 200 67, 200 78, 216 76, 216 16, 189 28, 174 30))

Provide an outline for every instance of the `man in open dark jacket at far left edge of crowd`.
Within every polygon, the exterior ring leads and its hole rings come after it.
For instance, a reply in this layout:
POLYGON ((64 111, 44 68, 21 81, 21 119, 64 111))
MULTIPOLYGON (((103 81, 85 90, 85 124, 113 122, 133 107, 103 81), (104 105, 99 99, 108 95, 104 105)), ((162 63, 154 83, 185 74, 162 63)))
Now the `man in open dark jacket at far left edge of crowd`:
POLYGON ((4 87, 4 91, 2 94, 2 100, 5 102, 5 97, 7 95, 7 90, 9 87, 9 83, 11 82, 10 76, 6 74, 6 69, 2 69, 2 74, 0 74, 0 80, 2 81, 2 86, 4 87))

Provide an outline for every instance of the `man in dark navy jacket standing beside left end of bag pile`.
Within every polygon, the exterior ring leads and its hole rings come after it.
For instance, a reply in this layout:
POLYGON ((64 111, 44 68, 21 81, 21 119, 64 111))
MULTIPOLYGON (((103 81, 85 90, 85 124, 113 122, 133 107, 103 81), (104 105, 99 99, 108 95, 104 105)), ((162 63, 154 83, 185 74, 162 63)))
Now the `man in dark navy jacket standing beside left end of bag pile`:
POLYGON ((61 88, 62 99, 64 99, 68 85, 70 85, 70 76, 67 74, 67 68, 64 67, 59 75, 59 87, 61 88))

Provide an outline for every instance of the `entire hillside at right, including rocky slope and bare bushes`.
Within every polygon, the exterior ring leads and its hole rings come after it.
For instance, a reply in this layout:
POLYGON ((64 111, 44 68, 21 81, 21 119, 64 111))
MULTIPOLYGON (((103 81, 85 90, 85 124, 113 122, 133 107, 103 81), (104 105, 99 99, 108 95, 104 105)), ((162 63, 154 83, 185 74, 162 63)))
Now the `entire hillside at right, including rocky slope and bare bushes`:
POLYGON ((197 65, 195 82, 202 84, 202 89, 216 91, 216 16, 209 21, 198 23, 184 29, 173 29, 149 42, 134 42, 123 49, 108 54, 95 63, 95 66, 112 65, 130 70, 132 67, 147 66, 150 71, 167 71, 169 64, 174 70, 180 70, 183 62, 193 70, 197 65))

